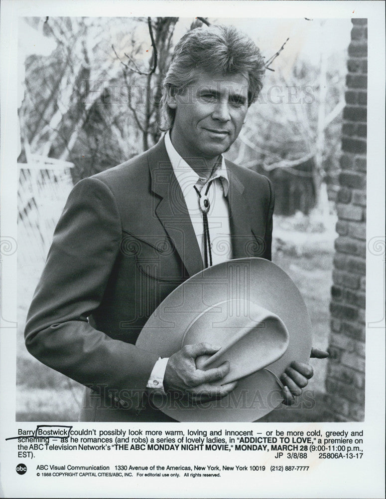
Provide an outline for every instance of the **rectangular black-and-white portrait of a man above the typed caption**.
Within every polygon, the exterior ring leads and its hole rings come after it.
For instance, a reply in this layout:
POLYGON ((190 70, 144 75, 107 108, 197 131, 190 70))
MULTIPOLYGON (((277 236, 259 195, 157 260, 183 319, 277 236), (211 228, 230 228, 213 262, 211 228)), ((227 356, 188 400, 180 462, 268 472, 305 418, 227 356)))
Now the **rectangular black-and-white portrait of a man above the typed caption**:
POLYGON ((363 420, 366 20, 232 22, 20 20, 18 420, 363 420))

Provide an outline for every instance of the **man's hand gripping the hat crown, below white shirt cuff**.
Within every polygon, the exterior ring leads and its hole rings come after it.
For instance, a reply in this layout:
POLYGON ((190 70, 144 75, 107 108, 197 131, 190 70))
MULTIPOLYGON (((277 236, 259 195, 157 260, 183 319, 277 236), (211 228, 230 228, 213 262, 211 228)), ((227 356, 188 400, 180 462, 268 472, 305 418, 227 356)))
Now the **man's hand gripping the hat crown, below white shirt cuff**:
POLYGON ((229 362, 221 366, 202 371, 196 367, 196 358, 200 355, 213 355, 220 347, 209 343, 185 345, 168 360, 163 379, 166 392, 182 391, 194 403, 206 402, 225 397, 237 385, 237 382, 221 384, 229 373, 229 362))

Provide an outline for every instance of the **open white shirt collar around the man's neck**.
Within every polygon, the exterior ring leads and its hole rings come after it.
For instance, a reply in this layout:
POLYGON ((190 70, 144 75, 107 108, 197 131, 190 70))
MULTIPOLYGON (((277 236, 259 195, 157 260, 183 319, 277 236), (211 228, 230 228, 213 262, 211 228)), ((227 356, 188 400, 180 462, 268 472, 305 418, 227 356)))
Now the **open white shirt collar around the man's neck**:
MULTIPOLYGON (((170 130, 168 130, 165 134, 165 147, 174 171, 174 175, 177 178, 183 195, 185 196, 187 191, 193 189, 195 185, 199 186, 199 188, 201 189, 202 186, 207 183, 206 180, 201 178, 175 150, 170 140, 170 130)), ((217 178, 221 180, 224 190, 224 196, 227 196, 229 189, 229 179, 227 167, 225 165, 225 159, 223 156, 221 156, 221 165, 213 172, 211 178, 208 179, 208 182, 209 180, 214 180, 217 178)))

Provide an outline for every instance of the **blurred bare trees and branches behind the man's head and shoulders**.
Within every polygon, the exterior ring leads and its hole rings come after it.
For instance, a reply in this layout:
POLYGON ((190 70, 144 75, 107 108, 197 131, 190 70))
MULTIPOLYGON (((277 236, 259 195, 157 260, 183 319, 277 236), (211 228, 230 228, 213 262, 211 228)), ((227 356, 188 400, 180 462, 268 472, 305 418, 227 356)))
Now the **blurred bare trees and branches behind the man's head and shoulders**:
MULTIPOLYGON (((107 18, 61 17, 25 22, 53 40, 55 48, 48 56, 32 53, 25 60, 20 162, 26 161, 26 149, 67 160, 74 163, 74 180, 79 180, 158 141, 158 104, 173 34, 176 26, 180 34, 201 21, 151 20, 157 51, 152 74, 154 48, 146 19, 115 18, 112 23, 107 18)), ((291 39, 286 43, 270 66, 274 71, 267 71, 260 98, 230 152, 232 159, 287 184, 280 199, 293 205, 289 213, 308 213, 315 202, 323 202, 322 183, 333 198, 338 169, 346 51, 323 50, 329 21, 312 22, 318 24, 320 38, 314 40, 313 57, 309 50, 294 53, 291 39), (304 184, 304 196, 292 187, 299 182, 304 184), (302 200, 294 204, 292 198, 299 200, 299 194, 302 200)), ((270 48, 266 58, 278 48, 270 48)))

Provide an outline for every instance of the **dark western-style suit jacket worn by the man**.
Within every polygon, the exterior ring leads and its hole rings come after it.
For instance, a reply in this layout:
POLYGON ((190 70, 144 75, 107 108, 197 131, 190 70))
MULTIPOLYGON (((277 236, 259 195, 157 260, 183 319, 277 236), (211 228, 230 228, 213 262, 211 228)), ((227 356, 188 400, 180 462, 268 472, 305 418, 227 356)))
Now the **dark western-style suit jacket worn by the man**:
MULTIPOLYGON (((226 164, 233 256, 270 259, 270 183, 226 164)), ((158 356, 134 344, 165 296, 202 268, 163 140, 74 187, 29 309, 25 342, 41 362, 89 387, 81 420, 169 419, 144 396, 158 356)))

